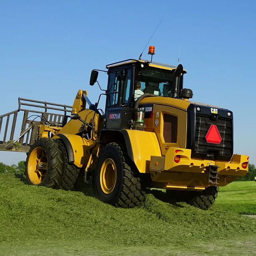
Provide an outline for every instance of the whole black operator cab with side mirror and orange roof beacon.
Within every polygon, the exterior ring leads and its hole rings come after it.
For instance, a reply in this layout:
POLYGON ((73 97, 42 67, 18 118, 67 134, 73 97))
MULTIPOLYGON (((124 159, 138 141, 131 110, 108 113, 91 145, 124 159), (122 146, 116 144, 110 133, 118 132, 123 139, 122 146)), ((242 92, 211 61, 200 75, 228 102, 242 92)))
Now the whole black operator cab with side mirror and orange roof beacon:
MULTIPOLYGON (((149 47, 148 54, 154 55, 154 46, 149 47)), ((186 70, 181 64, 176 67, 152 62, 152 58, 151 61, 139 58, 139 60, 128 59, 108 64, 106 69, 107 71, 104 71, 108 74, 104 114, 106 129, 130 128, 131 120, 137 120, 137 105, 144 94, 147 94, 145 95, 147 97, 179 98, 184 95, 184 99, 191 98, 191 94, 182 93, 183 75, 186 74, 186 70)), ((97 77, 98 72, 93 70, 90 85, 96 82, 97 77)))

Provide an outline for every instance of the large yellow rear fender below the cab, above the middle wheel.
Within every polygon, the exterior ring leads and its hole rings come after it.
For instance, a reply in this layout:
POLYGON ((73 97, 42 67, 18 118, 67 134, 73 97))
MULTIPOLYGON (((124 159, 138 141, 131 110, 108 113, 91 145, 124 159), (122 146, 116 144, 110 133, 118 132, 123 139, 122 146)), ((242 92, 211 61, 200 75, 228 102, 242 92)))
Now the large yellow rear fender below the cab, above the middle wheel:
POLYGON ((106 136, 107 134, 107 142, 114 142, 114 139, 118 140, 121 136, 126 144, 128 156, 141 173, 150 172, 151 156, 162 156, 159 142, 154 132, 140 130, 103 130, 101 138, 102 135, 106 136))

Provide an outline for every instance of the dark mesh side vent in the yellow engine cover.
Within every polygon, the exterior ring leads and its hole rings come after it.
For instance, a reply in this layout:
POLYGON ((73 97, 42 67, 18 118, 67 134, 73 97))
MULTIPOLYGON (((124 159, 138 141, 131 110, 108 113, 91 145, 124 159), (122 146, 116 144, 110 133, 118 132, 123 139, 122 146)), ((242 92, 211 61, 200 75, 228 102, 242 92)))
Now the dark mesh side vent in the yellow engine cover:
POLYGON ((178 118, 176 116, 164 114, 164 142, 177 142, 177 125, 178 118))

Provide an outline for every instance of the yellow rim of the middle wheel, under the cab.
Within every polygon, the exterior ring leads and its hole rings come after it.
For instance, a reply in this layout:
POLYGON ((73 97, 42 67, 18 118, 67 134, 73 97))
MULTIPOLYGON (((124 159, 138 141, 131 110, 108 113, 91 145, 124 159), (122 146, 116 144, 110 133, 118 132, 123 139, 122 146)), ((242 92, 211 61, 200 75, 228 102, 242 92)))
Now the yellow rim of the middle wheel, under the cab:
POLYGON ((116 185, 116 165, 110 158, 106 159, 100 169, 100 186, 105 194, 113 192, 116 185))

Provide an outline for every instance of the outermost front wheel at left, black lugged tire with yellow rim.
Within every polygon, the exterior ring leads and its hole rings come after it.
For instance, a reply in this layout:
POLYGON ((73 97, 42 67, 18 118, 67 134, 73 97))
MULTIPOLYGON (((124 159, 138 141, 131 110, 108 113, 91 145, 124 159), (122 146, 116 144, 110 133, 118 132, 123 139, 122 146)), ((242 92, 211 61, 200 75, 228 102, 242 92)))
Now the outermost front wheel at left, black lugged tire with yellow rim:
POLYGON ((43 138, 36 140, 36 142, 30 147, 30 150, 27 153, 25 170, 27 183, 29 185, 56 188, 56 186, 59 185, 60 177, 63 174, 62 159, 62 152, 58 144, 52 139, 43 138), (42 157, 40 158, 41 161, 44 162, 47 160, 47 170, 38 169, 38 161, 35 158, 36 154, 40 154, 40 151, 42 151, 42 157), (44 178, 38 174, 38 170, 40 170, 40 172, 44 172, 44 178), (38 176, 38 181, 36 180, 36 176, 38 176))

